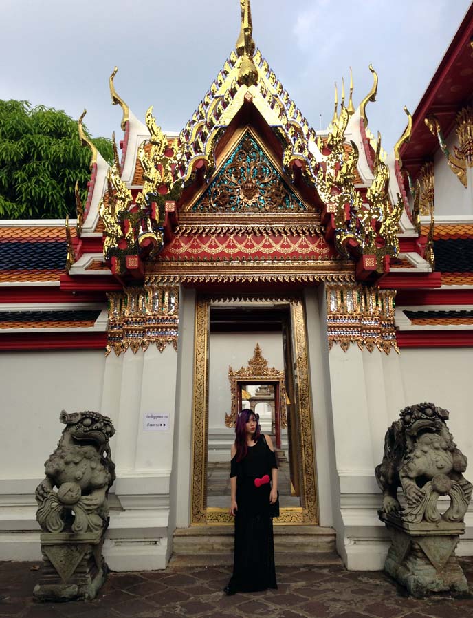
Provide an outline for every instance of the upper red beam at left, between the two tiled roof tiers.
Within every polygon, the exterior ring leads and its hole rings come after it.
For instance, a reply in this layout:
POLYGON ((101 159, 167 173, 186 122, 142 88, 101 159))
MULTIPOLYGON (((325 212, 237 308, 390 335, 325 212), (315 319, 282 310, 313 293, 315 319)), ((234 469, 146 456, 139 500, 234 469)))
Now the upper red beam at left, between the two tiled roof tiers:
POLYGON ((102 290, 65 292, 56 286, 0 288, 0 303, 102 303, 107 296, 102 290))

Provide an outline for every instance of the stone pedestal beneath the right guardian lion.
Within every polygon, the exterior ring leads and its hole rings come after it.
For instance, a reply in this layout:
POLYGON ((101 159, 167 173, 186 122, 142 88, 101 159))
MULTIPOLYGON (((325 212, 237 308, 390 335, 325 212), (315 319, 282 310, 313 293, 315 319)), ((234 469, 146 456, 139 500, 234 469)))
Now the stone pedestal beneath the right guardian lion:
POLYGON ((384 570, 414 597, 449 592, 468 594, 465 575, 454 550, 465 524, 408 524, 397 515, 380 513, 391 535, 384 570))

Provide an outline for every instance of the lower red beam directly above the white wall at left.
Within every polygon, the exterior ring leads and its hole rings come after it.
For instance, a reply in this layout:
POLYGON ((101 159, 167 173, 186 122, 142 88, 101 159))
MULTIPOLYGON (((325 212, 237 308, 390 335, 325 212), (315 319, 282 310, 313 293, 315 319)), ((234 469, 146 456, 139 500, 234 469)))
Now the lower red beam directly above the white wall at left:
POLYGON ((107 332, 0 332, 0 350, 104 350, 107 332))

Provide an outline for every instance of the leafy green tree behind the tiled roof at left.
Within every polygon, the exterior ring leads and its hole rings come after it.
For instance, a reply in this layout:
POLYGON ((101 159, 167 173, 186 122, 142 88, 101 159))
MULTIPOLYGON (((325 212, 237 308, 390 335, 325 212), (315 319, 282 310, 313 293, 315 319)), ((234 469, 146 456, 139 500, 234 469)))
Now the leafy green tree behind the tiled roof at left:
MULTIPOLYGON (((111 140, 91 141, 107 162, 113 161, 111 140)), ((64 111, 0 100, 0 217, 75 217, 74 186, 78 180, 85 202, 90 156, 80 145, 77 121, 64 111)))

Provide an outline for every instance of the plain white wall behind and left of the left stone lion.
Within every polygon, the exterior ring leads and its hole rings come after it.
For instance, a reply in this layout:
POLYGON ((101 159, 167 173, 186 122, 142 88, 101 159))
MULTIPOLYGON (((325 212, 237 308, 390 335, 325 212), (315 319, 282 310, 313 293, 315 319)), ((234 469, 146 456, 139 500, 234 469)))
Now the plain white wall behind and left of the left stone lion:
POLYGON ((64 425, 61 410, 100 409, 101 350, 2 352, 0 560, 41 560, 34 491, 64 425))

